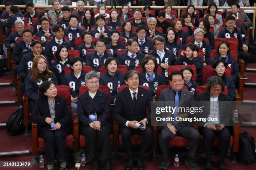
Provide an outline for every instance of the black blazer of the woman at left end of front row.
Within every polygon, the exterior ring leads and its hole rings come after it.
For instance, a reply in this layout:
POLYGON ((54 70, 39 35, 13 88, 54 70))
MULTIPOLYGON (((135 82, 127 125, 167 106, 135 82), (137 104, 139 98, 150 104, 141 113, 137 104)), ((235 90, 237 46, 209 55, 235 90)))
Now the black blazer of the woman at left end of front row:
MULTIPOLYGON (((61 128, 66 128, 69 130, 70 113, 67 107, 67 101, 62 97, 56 96, 54 110, 54 123, 59 122, 61 124, 61 128)), ((49 130, 51 129, 51 125, 45 122, 46 117, 51 117, 48 99, 38 98, 30 117, 30 121, 38 123, 39 131, 49 130)))

